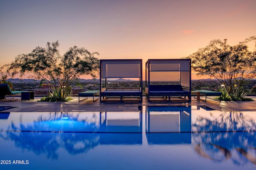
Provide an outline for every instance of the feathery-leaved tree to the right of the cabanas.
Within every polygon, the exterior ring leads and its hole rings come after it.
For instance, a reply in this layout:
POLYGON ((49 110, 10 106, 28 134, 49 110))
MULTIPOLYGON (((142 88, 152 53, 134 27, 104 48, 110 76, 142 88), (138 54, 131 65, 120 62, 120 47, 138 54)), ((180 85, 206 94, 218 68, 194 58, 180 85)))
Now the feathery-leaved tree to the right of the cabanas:
POLYGON ((233 99, 239 98, 237 95, 244 84, 256 77, 256 37, 249 37, 236 45, 228 45, 227 39, 212 40, 186 58, 191 59, 197 75, 216 78, 226 86, 233 99), (248 49, 251 41, 254 42, 253 51, 248 49))

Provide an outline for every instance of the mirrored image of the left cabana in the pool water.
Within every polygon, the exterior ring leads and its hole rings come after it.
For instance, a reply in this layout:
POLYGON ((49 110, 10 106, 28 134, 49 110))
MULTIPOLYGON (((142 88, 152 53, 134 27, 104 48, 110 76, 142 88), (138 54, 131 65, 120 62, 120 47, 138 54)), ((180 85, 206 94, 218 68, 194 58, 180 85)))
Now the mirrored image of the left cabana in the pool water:
POLYGON ((142 112, 100 112, 100 144, 142 145, 142 112))

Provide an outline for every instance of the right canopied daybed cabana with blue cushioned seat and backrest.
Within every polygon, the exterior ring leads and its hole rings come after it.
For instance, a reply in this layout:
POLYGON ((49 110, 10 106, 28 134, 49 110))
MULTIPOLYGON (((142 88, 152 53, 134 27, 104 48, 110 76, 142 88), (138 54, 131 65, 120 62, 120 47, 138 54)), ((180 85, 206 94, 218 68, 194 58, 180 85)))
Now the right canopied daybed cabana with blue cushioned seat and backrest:
POLYGON ((152 98, 191 102, 191 60, 149 59, 146 62, 146 99, 151 101, 152 98))

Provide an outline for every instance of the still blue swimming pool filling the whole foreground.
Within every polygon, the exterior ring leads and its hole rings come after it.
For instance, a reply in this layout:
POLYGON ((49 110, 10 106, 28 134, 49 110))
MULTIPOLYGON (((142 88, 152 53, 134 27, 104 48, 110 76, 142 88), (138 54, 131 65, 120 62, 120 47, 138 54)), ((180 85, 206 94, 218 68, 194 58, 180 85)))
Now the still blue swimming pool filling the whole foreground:
POLYGON ((0 169, 255 169, 256 113, 2 112, 0 169))

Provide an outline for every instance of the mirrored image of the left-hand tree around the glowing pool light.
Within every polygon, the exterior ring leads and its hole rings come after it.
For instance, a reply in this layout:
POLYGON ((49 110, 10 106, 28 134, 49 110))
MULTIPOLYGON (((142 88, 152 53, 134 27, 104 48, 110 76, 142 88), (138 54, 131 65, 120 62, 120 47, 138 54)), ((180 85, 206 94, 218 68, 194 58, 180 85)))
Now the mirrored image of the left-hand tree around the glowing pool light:
MULTIPOLYGON (((40 115, 38 121, 32 124, 22 123, 22 116, 20 117, 20 124, 17 126, 13 122, 8 127, 6 134, 0 133, 0 137, 4 140, 11 140, 15 142, 16 147, 22 150, 33 151, 35 154, 47 154, 48 158, 58 159, 58 149, 64 148, 70 154, 86 153, 88 150, 99 145, 99 134, 97 133, 52 133, 47 131, 49 124, 44 123, 48 121, 58 121, 62 119, 63 113, 50 113, 48 117, 40 115), (36 131, 35 129, 46 129, 45 131, 36 131)), ((95 116, 92 117, 94 119, 95 116)), ((71 121, 78 121, 78 115, 69 115, 71 121)), ((78 123, 88 124, 90 128, 96 128, 95 123, 87 118, 78 121, 78 123)), ((60 131, 62 131, 60 129, 60 131)))

